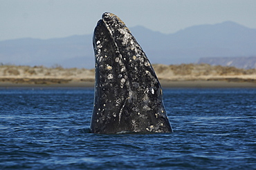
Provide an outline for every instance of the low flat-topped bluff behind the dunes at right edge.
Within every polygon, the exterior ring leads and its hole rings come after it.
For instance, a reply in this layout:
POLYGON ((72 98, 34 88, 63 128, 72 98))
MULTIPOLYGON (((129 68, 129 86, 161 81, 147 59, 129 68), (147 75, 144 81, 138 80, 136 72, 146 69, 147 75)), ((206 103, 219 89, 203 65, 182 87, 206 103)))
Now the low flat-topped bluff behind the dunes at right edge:
POLYGON ((205 57, 197 63, 208 63, 210 65, 233 66, 244 69, 256 68, 256 56, 250 57, 205 57))

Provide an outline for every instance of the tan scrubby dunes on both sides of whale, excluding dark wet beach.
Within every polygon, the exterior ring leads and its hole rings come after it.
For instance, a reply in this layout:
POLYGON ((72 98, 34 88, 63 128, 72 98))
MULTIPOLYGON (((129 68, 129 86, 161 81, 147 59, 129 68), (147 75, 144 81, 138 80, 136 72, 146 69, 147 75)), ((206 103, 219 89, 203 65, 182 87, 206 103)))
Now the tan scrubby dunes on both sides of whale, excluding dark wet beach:
MULTIPOLYGON (((256 85, 256 70, 244 70, 236 67, 212 66, 208 64, 153 65, 160 81, 226 81, 247 82, 256 85)), ((16 85, 52 85, 87 82, 93 84, 95 70, 0 65, 0 83, 16 85)))

